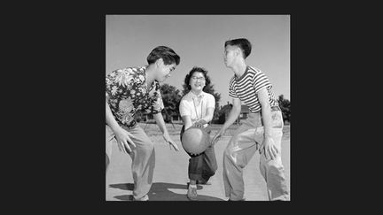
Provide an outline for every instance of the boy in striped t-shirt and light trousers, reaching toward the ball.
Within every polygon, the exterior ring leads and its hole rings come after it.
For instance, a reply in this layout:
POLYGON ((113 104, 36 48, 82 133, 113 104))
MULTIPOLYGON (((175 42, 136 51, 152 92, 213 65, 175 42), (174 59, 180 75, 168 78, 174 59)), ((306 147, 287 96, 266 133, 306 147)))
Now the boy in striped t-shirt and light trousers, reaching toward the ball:
POLYGON ((238 119, 241 103, 249 108, 249 116, 232 135, 223 154, 223 184, 229 201, 244 199, 243 168, 259 150, 260 170, 266 180, 270 201, 288 200, 289 190, 281 160, 281 139, 284 125, 282 112, 269 79, 262 71, 246 65, 251 43, 245 38, 224 44, 224 63, 231 68, 229 96, 233 107, 223 127, 215 134, 213 144, 238 119))

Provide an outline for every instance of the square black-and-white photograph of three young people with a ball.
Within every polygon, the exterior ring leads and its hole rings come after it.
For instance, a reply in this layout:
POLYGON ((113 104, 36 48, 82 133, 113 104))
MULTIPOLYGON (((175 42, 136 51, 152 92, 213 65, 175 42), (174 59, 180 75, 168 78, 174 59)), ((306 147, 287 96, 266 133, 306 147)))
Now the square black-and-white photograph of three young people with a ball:
POLYGON ((106 201, 293 201, 290 14, 104 21, 106 201))

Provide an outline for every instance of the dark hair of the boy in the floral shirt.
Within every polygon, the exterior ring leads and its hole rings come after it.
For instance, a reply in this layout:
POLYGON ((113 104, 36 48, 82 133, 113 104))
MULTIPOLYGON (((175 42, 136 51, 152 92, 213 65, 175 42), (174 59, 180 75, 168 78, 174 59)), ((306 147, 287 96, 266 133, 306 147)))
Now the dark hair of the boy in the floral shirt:
POLYGON ((180 57, 176 54, 176 52, 167 46, 158 46, 154 48, 148 57, 146 58, 149 65, 156 62, 157 59, 162 58, 165 65, 171 65, 176 63, 179 65, 180 57))

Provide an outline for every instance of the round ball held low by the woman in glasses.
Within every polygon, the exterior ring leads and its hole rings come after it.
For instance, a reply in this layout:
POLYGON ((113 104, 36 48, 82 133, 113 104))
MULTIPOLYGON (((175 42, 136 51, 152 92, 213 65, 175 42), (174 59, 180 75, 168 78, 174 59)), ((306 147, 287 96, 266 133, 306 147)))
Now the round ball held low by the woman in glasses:
POLYGON ((210 137, 202 128, 189 127, 184 131, 181 142, 184 150, 193 155, 199 155, 210 145, 210 137))

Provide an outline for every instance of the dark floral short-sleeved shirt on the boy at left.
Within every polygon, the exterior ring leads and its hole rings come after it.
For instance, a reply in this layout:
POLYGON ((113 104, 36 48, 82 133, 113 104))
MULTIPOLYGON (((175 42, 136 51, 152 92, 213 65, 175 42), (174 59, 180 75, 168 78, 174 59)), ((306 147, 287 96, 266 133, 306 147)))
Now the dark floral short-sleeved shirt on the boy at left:
POLYGON ((107 102, 114 119, 126 127, 137 124, 137 111, 156 114, 164 108, 160 83, 153 81, 151 88, 146 88, 145 70, 146 66, 128 67, 106 75, 107 102))

